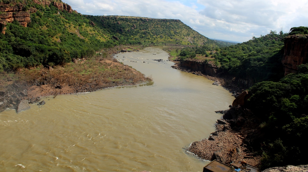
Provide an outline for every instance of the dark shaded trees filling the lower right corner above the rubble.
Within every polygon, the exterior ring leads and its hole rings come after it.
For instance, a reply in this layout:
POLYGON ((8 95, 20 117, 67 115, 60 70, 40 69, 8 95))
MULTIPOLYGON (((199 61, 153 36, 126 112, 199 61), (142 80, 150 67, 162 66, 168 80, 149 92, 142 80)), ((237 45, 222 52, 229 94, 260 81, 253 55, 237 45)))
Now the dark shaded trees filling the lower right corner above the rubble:
POLYGON ((259 119, 264 137, 262 168, 307 163, 308 65, 278 82, 263 81, 249 89, 248 107, 259 119))

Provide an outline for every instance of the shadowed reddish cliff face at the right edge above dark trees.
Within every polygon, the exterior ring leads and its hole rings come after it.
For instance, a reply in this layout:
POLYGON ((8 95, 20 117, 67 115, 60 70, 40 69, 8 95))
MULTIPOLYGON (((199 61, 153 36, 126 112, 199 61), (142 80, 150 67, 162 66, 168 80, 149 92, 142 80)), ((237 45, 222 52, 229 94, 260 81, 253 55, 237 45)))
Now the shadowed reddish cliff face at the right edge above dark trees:
POLYGON ((285 76, 297 72, 297 66, 308 62, 308 35, 291 35, 285 38, 282 58, 285 76))

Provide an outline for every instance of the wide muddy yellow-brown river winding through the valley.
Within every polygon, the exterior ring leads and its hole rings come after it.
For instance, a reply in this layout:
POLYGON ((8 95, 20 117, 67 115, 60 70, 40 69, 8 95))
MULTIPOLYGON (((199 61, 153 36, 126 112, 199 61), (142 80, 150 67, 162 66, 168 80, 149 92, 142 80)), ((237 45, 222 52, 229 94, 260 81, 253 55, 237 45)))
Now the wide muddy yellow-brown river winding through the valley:
POLYGON ((171 68, 161 48, 115 58, 154 84, 43 97, 43 106, 1 112, 1 171, 202 171, 208 162, 183 148, 214 132, 215 111, 234 97, 171 68))

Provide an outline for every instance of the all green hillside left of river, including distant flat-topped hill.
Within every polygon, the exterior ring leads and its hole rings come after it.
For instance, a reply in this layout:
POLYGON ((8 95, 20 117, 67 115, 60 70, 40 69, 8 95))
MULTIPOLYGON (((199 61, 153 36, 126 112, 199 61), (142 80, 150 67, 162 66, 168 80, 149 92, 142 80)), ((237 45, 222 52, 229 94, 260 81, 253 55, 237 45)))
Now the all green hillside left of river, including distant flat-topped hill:
MULTIPOLYGON (((6 2, 6 1, 3 1, 6 2)), ((73 58, 89 58, 103 48, 116 45, 203 45, 212 40, 179 20, 126 16, 88 16, 42 6, 27 0, 7 1, 30 14, 31 22, 22 27, 7 23, 0 34, 0 72, 40 64, 54 66, 73 58), (16 5, 17 4, 17 5, 16 5)), ((0 26, 1 30, 4 25, 0 26)))

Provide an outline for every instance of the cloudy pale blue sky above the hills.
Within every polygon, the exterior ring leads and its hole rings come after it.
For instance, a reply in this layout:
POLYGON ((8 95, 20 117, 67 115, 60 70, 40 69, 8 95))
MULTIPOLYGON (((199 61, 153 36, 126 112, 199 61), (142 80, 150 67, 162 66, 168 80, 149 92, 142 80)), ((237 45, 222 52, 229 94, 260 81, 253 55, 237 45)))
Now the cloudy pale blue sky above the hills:
POLYGON ((212 39, 245 42, 308 26, 308 0, 62 0, 81 14, 180 19, 212 39))

